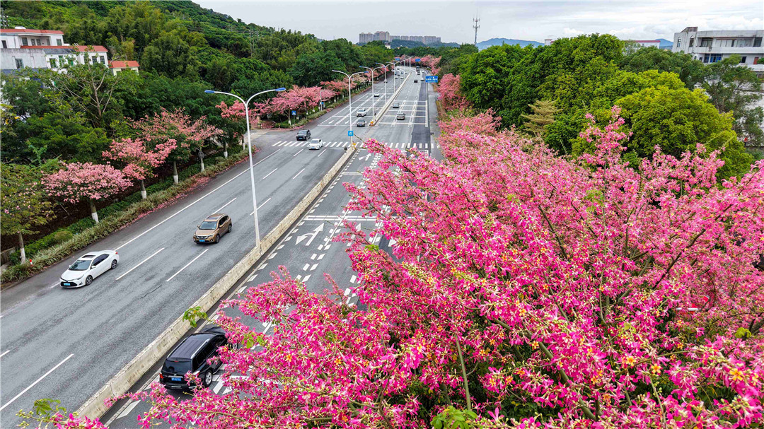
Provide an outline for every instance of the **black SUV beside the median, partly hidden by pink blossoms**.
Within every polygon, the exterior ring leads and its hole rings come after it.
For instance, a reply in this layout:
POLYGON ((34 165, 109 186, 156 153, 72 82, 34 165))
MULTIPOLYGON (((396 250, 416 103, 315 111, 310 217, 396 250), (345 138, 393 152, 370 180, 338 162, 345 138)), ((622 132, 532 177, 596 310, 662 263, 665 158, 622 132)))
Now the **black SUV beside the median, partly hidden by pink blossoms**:
POLYGON ((164 360, 159 382, 167 389, 189 389, 186 373, 196 373, 204 387, 212 383, 212 374, 218 372, 220 360, 210 365, 209 358, 218 356, 218 349, 228 344, 222 327, 211 326, 199 334, 186 337, 164 360))

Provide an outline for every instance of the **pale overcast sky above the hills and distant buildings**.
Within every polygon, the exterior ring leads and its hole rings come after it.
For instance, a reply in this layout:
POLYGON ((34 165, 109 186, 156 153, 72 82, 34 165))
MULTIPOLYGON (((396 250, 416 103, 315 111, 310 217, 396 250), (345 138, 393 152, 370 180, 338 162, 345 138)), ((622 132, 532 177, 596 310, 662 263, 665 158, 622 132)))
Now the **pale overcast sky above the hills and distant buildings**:
POLYGON ((344 37, 358 43, 362 32, 439 36, 444 42, 472 43, 475 15, 478 41, 492 37, 543 41, 576 34, 609 33, 622 39, 672 40, 688 26, 698 30, 760 30, 764 2, 693 0, 673 2, 261 2, 206 0, 241 21, 302 31, 322 39, 344 37))

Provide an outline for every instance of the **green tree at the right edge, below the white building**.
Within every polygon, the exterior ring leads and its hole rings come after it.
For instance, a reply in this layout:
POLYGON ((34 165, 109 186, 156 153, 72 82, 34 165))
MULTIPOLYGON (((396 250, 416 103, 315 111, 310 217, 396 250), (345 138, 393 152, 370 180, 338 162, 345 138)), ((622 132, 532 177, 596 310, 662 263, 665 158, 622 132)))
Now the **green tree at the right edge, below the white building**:
POLYGON ((747 144, 764 144, 764 109, 761 107, 761 80, 756 72, 740 66, 740 56, 732 55, 705 69, 702 88, 721 113, 730 112, 735 118, 733 130, 747 144), (754 107, 755 106, 755 107, 754 107))

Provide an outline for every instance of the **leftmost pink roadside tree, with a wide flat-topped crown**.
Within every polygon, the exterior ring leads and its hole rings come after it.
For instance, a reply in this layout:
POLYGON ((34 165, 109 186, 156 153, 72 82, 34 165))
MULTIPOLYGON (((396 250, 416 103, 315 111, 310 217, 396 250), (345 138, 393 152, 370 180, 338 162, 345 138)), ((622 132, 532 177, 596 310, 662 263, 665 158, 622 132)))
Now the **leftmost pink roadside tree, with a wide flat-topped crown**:
POLYGON ((130 186, 130 179, 109 164, 68 163, 57 173, 43 177, 43 185, 50 195, 65 202, 88 202, 90 216, 97 224, 95 201, 108 198, 130 186))

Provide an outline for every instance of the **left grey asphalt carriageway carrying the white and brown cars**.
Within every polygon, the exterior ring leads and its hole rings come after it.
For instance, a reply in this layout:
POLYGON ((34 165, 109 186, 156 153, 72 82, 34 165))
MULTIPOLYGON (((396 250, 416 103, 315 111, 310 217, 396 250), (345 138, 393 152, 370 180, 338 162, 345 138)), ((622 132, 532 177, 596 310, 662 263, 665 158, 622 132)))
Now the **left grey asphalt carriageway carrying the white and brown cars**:
MULTIPOLYGON (((382 92, 384 85, 375 86, 382 92)), ((372 102, 381 106, 381 99, 384 94, 374 100, 371 91, 354 97, 353 114, 372 102)), ((307 126, 312 137, 332 143, 323 150, 307 150, 307 142, 294 140, 296 131, 269 131, 254 139, 261 148, 254 156, 261 237, 342 156, 347 119, 324 123, 347 115, 345 105, 307 126)), ((15 427, 16 411, 31 409, 39 398, 60 399, 70 411, 79 408, 254 247, 252 213, 245 162, 3 291, 0 427, 15 427), (218 211, 231 216, 232 233, 220 244, 195 244, 196 225, 218 211), (58 279, 66 266, 93 250, 117 250, 120 265, 92 285, 61 289, 58 279)))

